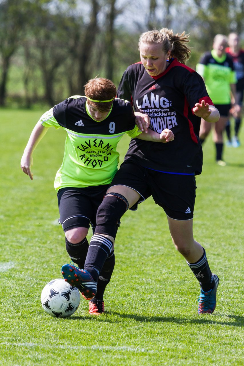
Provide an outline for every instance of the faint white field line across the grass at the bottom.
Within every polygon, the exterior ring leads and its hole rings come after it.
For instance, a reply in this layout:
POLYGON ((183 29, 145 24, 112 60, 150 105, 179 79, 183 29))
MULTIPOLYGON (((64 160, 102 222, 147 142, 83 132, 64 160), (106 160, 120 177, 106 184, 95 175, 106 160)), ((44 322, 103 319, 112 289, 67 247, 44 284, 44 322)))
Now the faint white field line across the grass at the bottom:
POLYGON ((132 348, 127 346, 68 346, 68 345, 59 345, 59 344, 38 344, 38 343, 9 343, 9 342, 1 342, 0 346, 10 346, 10 347, 41 347, 41 348, 57 348, 63 350, 98 350, 98 351, 128 351, 128 352, 146 352, 153 353, 153 350, 147 350, 145 348, 132 348))

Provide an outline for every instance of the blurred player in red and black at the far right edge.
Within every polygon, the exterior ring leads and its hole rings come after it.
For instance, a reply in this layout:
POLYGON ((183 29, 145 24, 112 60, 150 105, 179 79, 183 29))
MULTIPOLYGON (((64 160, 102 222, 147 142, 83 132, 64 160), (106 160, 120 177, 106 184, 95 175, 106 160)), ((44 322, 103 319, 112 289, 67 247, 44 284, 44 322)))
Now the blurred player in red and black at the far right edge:
POLYGON ((239 147, 239 131, 241 127, 243 91, 244 91, 244 50, 241 49, 240 37, 237 33, 230 33, 228 36, 228 45, 225 49, 227 55, 232 57, 234 69, 236 71, 236 104, 240 106, 238 110, 231 109, 232 117, 234 118, 234 136, 231 138, 230 120, 226 124, 226 134, 228 137, 227 146, 239 147))

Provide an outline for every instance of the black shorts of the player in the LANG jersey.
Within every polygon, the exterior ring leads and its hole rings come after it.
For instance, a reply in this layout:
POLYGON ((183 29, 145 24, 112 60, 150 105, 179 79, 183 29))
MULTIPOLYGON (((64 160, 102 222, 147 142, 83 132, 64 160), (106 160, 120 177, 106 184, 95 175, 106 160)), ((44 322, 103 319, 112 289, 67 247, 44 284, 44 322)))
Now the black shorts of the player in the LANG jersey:
POLYGON ((167 216, 174 220, 190 220, 193 218, 196 179, 194 175, 168 174, 141 167, 125 160, 110 184, 133 188, 142 199, 152 196, 155 203, 161 206, 167 216))

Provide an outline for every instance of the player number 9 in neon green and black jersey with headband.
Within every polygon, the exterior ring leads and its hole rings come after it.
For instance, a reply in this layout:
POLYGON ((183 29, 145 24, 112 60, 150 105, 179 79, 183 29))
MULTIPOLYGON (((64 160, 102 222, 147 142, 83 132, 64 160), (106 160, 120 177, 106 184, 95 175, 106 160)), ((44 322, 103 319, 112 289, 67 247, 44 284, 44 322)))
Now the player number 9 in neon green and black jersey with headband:
MULTIPOLYGON (((34 127, 21 159, 23 172, 33 179, 31 167, 35 147, 49 127, 67 132, 64 158, 55 178, 60 223, 65 232, 67 252, 80 268, 84 267, 88 250, 89 226, 96 225, 97 208, 109 183, 117 172, 119 153, 116 147, 126 133, 130 137, 168 142, 173 132, 145 134, 135 124, 135 115, 128 101, 115 98, 116 87, 108 79, 91 79, 85 86, 86 97, 72 96, 44 113, 34 127)), ((148 117, 138 113, 138 120, 148 117)), ((119 223, 117 224, 118 227, 119 223)), ((117 229, 116 227, 116 229, 117 229)), ((115 265, 112 251, 98 279, 98 292, 89 303, 90 314, 104 312, 103 295, 115 265)), ((77 285, 80 292, 83 288, 77 285)))

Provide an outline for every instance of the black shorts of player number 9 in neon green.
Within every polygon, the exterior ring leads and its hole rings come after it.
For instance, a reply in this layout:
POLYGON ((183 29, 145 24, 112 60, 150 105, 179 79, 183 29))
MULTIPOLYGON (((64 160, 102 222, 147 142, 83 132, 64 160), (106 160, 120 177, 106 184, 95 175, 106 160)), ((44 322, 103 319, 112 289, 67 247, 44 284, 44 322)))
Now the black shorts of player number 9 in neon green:
POLYGON ((76 227, 92 228, 96 214, 109 185, 76 188, 61 188, 57 193, 60 223, 64 232, 76 227))

